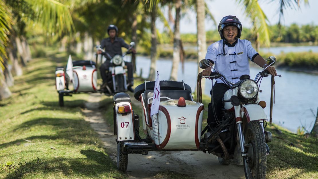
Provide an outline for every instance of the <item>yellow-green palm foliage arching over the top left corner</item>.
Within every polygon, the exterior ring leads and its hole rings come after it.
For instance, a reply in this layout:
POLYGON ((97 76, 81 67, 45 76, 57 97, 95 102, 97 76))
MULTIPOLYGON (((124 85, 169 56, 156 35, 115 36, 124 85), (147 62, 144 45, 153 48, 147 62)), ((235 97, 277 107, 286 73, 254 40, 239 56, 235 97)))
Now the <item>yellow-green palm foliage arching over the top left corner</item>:
MULTIPOLYGON (((8 46, 10 31, 13 32, 13 19, 18 18, 25 24, 35 22, 41 24, 43 30, 50 35, 57 33, 72 33, 74 30, 73 21, 69 12, 69 7, 57 0, 0 0, 0 91, 1 99, 10 97, 11 93, 4 81, 5 64, 7 63, 7 53, 5 51, 8 46), (24 13, 24 18, 19 18, 20 13, 24 13)), ((19 28, 24 29, 25 26, 19 28)), ((18 34, 17 34, 18 35, 18 34)), ((19 39, 16 42, 19 43, 19 39)), ((18 48, 23 44, 17 44, 18 48)), ((23 48, 23 47, 22 47, 23 48)), ((16 53, 16 52, 13 52, 16 53)), ((11 56, 11 55, 10 55, 11 56)))

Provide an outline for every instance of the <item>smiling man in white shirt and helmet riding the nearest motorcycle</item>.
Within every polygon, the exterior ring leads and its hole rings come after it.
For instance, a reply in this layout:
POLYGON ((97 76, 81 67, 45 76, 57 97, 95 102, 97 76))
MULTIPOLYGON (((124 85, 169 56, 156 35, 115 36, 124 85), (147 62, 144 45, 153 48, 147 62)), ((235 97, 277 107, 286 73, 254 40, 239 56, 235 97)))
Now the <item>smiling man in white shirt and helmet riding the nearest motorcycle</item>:
MULTIPOLYGON (((214 68, 220 74, 225 75, 232 82, 238 82, 241 75, 250 75, 249 59, 262 68, 266 67, 266 61, 252 47, 251 42, 239 39, 242 24, 238 18, 235 16, 223 17, 218 25, 218 32, 221 40, 208 47, 205 59, 210 61, 210 66, 215 64, 214 68)), ((277 75, 274 67, 268 67, 266 70, 272 75, 277 75)), ((210 67, 202 72, 203 76, 210 74, 210 67)), ((211 89, 211 103, 209 103, 207 122, 212 128, 216 127, 217 121, 221 120, 222 98, 228 89, 230 87, 220 79, 216 79, 211 89), (212 106, 214 106, 214 110, 212 106)))

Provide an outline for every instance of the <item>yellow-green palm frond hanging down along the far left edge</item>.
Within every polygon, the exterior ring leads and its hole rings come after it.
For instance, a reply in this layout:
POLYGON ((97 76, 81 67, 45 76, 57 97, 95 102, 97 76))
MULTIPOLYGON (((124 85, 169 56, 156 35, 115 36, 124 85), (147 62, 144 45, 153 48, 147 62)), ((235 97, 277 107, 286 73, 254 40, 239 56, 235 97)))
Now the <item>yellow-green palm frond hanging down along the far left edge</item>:
POLYGON ((0 0, 0 69, 4 69, 4 60, 2 55, 6 57, 5 47, 8 42, 9 30, 12 25, 12 15, 9 8, 0 0))

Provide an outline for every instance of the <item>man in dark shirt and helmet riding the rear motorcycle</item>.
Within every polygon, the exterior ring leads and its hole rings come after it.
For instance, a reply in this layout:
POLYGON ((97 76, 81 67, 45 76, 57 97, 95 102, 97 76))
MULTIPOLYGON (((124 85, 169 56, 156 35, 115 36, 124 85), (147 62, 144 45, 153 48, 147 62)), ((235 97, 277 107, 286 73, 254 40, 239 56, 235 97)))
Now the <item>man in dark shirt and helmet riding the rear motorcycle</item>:
MULTIPOLYGON (((105 49, 107 54, 105 55, 106 61, 100 66, 100 75, 103 79, 103 84, 107 80, 106 70, 109 69, 110 59, 116 55, 122 55, 121 47, 129 48, 130 46, 125 43, 124 39, 117 37, 118 28, 115 25, 109 25, 107 28, 107 33, 109 35, 108 38, 102 39, 100 42, 100 46, 102 49, 105 49)), ((136 53, 135 49, 132 48, 131 51, 136 53)), ((101 54, 102 52, 99 50, 97 54, 101 54)), ((134 77, 133 77, 133 65, 131 62, 125 62, 125 65, 128 69, 128 86, 134 85, 134 77)))

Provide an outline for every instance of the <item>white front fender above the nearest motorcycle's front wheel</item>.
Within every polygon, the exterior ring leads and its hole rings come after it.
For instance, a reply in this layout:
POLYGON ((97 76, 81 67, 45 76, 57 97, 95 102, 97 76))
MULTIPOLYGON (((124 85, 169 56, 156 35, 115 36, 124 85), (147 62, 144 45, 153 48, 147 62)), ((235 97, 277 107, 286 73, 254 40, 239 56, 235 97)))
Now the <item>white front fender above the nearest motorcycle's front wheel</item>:
POLYGON ((247 122, 255 120, 267 120, 264 109, 258 104, 247 104, 241 108, 242 118, 246 118, 247 122))

